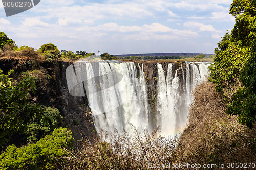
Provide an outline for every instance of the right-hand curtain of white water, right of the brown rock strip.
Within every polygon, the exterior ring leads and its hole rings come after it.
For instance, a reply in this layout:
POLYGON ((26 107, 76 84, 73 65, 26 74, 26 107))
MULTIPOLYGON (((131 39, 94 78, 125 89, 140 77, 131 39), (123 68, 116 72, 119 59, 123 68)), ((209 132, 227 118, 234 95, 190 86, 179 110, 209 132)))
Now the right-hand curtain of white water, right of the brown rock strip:
POLYGON ((188 120, 188 106, 193 100, 191 92, 208 75, 208 66, 186 64, 185 80, 182 65, 174 74, 174 64, 169 63, 165 79, 162 65, 157 64, 157 125, 160 126, 161 135, 176 135, 183 131, 188 120), (180 77, 178 71, 181 72, 180 77))

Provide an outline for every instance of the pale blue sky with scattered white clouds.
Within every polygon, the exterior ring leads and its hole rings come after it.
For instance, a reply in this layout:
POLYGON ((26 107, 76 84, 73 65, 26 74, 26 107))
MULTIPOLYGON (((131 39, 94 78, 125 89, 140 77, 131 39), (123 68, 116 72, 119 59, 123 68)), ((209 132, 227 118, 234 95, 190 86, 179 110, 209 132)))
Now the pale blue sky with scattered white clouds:
POLYGON ((53 43, 59 50, 109 54, 214 53, 234 26, 231 0, 41 0, 6 17, 0 31, 20 47, 53 43))

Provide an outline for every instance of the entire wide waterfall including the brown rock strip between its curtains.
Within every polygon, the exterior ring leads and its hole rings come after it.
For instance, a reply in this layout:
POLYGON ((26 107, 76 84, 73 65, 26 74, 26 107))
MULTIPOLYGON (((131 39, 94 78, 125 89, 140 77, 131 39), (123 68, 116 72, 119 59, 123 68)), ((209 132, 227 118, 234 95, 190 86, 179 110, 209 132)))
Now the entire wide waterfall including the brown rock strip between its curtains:
POLYGON ((186 127, 193 89, 206 79, 203 62, 88 62, 66 69, 69 93, 87 96, 97 132, 177 135, 186 127))

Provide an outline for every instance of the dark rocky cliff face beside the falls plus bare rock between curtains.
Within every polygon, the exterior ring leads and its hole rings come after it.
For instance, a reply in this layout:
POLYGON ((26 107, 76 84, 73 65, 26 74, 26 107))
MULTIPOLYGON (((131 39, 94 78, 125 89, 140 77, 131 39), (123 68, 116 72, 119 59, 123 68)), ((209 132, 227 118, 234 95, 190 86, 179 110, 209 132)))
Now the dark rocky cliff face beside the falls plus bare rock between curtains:
MULTIPOLYGON (((88 107, 86 97, 74 97, 69 94, 66 81, 66 68, 74 61, 59 61, 55 64, 34 61, 29 59, 1 59, 0 69, 4 74, 10 69, 15 70, 12 75, 14 80, 19 79, 22 72, 31 72, 32 76, 39 77, 37 80, 37 92, 34 100, 45 106, 57 108, 64 117, 61 126, 68 127, 72 130, 74 137, 79 140, 82 136, 92 136, 96 134, 92 123, 92 114, 88 107), (37 70, 37 71, 35 71, 37 70)), ((138 77, 139 67, 142 68, 146 76, 148 85, 148 102, 152 108, 152 115, 156 113, 156 96, 157 96, 157 62, 155 61, 132 61, 137 67, 138 77)), ((168 61, 158 61, 164 69, 166 76, 168 61)), ((175 70, 180 68, 181 62, 175 62, 175 70)), ((97 66, 97 63, 94 63, 97 66)), ((185 64, 182 65, 185 67, 185 64)), ((182 74, 178 72, 177 74, 182 74)), ((31 96, 32 98, 33 96, 31 96)))

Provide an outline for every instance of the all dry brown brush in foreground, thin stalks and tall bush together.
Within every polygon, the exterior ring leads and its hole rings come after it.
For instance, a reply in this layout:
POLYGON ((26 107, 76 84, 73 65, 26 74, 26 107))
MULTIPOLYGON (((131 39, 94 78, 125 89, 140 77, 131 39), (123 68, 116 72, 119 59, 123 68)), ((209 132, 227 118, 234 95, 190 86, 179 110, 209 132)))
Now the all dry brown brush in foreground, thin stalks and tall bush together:
POLYGON ((83 139, 66 158, 68 164, 61 168, 151 169, 150 165, 158 164, 157 169, 166 169, 166 163, 255 162, 255 128, 250 130, 239 124, 235 116, 227 115, 226 104, 214 89, 210 82, 196 88, 189 125, 180 138, 156 138, 158 130, 139 133, 134 127, 131 135, 100 133, 99 137, 83 139))

